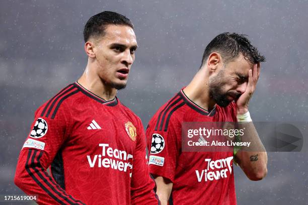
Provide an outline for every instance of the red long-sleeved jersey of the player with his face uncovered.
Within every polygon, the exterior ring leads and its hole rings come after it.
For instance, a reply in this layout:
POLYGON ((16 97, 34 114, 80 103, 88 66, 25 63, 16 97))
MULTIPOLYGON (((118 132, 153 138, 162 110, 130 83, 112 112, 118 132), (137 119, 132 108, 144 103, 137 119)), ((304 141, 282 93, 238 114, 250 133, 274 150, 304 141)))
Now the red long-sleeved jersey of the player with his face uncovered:
POLYGON ((39 204, 159 204, 140 119, 77 82, 36 111, 15 182, 39 204))

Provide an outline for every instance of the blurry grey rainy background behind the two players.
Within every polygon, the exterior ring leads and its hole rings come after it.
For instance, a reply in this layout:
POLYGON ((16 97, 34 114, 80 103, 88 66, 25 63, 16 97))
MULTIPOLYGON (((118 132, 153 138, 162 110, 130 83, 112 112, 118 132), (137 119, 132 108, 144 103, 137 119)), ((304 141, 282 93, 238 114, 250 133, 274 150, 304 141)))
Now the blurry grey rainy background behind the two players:
MULTIPOLYGON (((81 76, 83 27, 105 10, 134 23, 139 48, 118 97, 144 125, 190 82, 205 46, 222 32, 248 34, 267 58, 250 103, 253 120, 307 121, 307 1, 1 1, 0 195, 22 193, 13 178, 34 111, 81 76)), ((238 203, 307 204, 307 159, 306 152, 270 152, 268 175, 258 182, 236 167, 238 203)))

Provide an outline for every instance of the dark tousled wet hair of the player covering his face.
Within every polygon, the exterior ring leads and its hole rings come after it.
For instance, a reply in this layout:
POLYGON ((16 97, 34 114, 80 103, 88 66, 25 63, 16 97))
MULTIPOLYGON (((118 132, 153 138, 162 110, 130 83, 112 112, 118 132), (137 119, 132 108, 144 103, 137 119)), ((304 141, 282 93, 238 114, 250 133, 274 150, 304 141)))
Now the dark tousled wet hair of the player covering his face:
POLYGON ((208 56, 217 52, 221 55, 224 63, 228 63, 239 56, 240 53, 249 62, 256 64, 265 62, 265 57, 251 44, 245 34, 222 33, 216 36, 205 48, 201 66, 206 62, 208 56))

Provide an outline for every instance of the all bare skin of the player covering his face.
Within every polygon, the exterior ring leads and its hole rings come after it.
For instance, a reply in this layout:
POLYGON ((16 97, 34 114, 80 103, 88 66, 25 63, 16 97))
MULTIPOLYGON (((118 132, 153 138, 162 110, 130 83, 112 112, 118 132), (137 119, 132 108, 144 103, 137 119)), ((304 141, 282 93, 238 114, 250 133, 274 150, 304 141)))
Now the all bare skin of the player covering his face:
MULTIPOLYGON (((248 62, 242 54, 225 63, 221 55, 214 52, 209 55, 184 92, 205 110, 212 110, 215 104, 225 107, 235 100, 237 114, 245 114, 259 76, 259 63, 248 62)), ((246 124, 246 132, 249 136, 243 136, 242 141, 252 142, 252 149, 261 151, 239 151, 235 158, 249 179, 261 180, 267 174, 267 154, 252 123, 246 124)), ((155 177, 157 194, 162 204, 168 204, 173 183, 162 176, 155 177)))

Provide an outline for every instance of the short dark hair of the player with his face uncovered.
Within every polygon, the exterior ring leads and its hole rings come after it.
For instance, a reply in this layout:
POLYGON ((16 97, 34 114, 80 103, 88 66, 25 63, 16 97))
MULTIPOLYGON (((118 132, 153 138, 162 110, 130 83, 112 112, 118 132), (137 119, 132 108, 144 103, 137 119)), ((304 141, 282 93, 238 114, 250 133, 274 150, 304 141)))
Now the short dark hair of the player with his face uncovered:
POLYGON ((105 35, 107 25, 125 25, 134 29, 132 22, 125 16, 105 11, 91 17, 84 29, 84 40, 87 42, 91 37, 102 37, 105 35))

